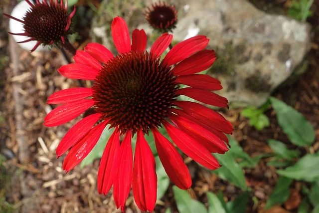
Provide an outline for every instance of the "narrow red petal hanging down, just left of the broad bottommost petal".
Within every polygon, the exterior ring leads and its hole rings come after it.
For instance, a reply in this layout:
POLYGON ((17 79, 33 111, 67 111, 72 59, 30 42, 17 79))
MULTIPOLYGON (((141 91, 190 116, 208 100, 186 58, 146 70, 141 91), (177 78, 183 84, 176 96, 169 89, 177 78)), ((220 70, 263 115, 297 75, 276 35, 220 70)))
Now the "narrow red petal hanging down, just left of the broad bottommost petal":
POLYGON ((129 196, 132 185, 132 169, 133 169, 133 153, 131 146, 131 131, 126 133, 126 136, 121 144, 117 157, 117 175, 114 179, 113 198, 117 208, 125 210, 125 202, 129 196))

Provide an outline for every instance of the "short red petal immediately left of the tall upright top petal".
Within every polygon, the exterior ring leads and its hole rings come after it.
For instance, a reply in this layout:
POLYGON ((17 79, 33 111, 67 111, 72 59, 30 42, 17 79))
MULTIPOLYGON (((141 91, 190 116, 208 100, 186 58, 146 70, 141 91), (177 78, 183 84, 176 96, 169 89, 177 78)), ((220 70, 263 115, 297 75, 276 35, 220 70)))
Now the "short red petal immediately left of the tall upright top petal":
POLYGON ((107 63, 110 59, 114 58, 112 52, 99 43, 89 43, 86 47, 84 47, 84 50, 92 55, 96 60, 103 63, 107 63))

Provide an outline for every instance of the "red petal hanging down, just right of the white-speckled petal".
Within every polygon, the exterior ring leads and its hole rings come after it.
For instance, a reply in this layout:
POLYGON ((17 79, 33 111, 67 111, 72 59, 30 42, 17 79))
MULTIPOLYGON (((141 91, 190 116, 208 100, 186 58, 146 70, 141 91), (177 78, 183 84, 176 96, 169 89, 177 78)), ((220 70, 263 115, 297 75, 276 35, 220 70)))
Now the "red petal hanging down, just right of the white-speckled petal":
POLYGON ((120 149, 120 131, 116 128, 104 149, 98 172, 98 191, 106 195, 116 174, 115 161, 120 149))

